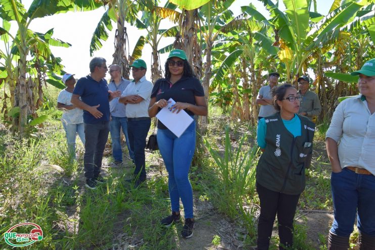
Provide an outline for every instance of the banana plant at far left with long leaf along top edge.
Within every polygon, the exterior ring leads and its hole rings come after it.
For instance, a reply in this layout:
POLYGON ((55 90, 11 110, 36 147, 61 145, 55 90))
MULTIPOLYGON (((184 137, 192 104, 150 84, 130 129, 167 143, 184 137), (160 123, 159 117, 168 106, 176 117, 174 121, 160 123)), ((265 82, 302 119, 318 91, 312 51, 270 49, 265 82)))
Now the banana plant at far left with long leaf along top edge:
MULTIPOLYGON (((69 46, 70 44, 51 38, 52 31, 45 34, 36 33, 29 29, 30 23, 35 18, 54 15, 57 13, 66 13, 76 10, 92 10, 98 8, 99 5, 94 0, 34 0, 30 8, 26 11, 25 7, 18 0, 0 0, 0 18, 5 20, 3 27, 0 27, 0 34, 7 35, 11 41, 10 52, 14 56, 7 57, 9 60, 17 60, 14 68, 16 75, 10 76, 15 82, 11 83, 15 86, 15 97, 13 107, 19 107, 19 117, 14 120, 13 127, 20 132, 20 136, 25 135, 25 128, 28 122, 28 114, 31 113, 30 105, 32 105, 32 92, 36 84, 30 77, 30 69, 35 64, 30 64, 27 60, 28 56, 38 55, 50 61, 51 51, 50 45, 69 46), (9 32, 9 22, 15 21, 17 25, 17 34, 13 36, 9 32), (13 58, 12 58, 13 57, 13 58)), ((53 60, 53 59, 52 59, 53 60)), ((37 62, 40 66, 40 61, 37 62)), ((11 62, 7 63, 10 66, 11 62)), ((10 72, 11 68, 8 69, 10 72)), ((39 68, 39 70, 42 70, 39 68)), ((40 77, 39 74, 38 77, 40 77)), ((39 82, 39 84, 41 84, 39 82)))

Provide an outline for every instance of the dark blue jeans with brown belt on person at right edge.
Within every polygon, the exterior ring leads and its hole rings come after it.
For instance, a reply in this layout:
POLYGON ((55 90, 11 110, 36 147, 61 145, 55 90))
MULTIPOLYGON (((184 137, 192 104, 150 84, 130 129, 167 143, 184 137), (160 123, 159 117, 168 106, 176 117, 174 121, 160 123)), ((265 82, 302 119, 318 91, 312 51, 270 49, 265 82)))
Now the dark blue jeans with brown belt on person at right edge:
POLYGON ((356 174, 344 168, 331 174, 331 189, 335 220, 331 232, 339 236, 350 236, 355 215, 361 233, 375 236, 375 176, 356 174))

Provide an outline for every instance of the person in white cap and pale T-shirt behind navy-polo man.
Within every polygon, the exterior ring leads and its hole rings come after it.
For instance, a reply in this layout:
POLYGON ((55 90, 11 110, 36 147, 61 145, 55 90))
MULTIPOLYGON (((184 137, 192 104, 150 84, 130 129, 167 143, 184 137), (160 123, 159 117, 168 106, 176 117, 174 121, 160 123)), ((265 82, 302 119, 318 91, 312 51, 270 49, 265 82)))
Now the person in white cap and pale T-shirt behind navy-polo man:
POLYGON ((65 130, 70 159, 75 159, 75 138, 77 133, 83 145, 85 144, 83 110, 75 107, 70 102, 75 85, 73 76, 74 75, 68 73, 63 75, 62 81, 66 85, 66 88, 61 90, 57 97, 57 108, 64 111, 61 122, 65 130))

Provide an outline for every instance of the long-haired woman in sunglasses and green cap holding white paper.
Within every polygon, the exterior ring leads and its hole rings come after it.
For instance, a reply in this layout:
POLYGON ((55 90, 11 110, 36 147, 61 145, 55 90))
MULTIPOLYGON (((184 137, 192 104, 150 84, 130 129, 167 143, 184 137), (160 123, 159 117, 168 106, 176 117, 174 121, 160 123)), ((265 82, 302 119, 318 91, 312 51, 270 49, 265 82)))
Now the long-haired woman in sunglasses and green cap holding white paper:
MULTIPOLYGON (((192 67, 186 60, 185 52, 173 49, 165 63, 165 78, 156 81, 151 94, 149 106, 150 117, 165 106, 172 98, 176 103, 173 112, 186 111, 193 119, 194 115, 207 116, 207 105, 202 84, 194 77, 192 67)), ((181 236, 193 236, 193 189, 189 181, 189 169, 195 152, 196 122, 178 138, 167 127, 158 121, 157 133, 160 154, 168 171, 168 189, 172 214, 161 220, 161 224, 169 227, 180 219, 181 199, 185 224, 181 236)))

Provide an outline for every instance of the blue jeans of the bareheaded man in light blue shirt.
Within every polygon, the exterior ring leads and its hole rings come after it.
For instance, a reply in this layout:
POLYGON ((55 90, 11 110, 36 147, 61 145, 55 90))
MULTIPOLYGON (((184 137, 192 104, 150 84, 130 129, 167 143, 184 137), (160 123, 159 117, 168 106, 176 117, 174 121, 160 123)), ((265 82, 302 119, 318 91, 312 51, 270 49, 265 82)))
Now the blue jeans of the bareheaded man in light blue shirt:
POLYGON ((115 117, 112 116, 111 124, 111 139, 112 139, 112 156, 116 162, 122 162, 122 150, 121 150, 121 128, 125 135, 125 141, 127 149, 129 151, 129 157, 134 160, 134 153, 130 149, 129 136, 127 133, 127 118, 126 117, 115 117))

